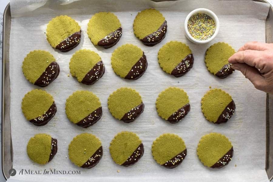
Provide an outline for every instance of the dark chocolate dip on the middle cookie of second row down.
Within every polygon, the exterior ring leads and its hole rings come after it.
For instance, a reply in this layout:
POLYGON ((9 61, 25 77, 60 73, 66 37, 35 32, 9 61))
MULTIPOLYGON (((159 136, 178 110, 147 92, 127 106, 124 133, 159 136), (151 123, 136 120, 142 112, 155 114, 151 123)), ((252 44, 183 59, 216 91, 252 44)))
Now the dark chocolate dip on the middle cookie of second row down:
POLYGON ((147 66, 147 59, 143 52, 142 57, 136 62, 136 64, 131 68, 129 73, 124 78, 131 80, 139 79, 146 71, 147 66))

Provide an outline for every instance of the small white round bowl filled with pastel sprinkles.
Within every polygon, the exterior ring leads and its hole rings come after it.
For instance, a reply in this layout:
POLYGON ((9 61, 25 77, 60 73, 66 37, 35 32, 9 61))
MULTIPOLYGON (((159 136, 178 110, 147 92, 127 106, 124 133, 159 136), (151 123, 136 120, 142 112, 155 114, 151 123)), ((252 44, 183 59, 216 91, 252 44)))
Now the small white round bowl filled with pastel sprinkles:
POLYGON ((214 39, 219 31, 219 19, 209 9, 198 8, 185 19, 185 35, 195 44, 205 44, 214 39))

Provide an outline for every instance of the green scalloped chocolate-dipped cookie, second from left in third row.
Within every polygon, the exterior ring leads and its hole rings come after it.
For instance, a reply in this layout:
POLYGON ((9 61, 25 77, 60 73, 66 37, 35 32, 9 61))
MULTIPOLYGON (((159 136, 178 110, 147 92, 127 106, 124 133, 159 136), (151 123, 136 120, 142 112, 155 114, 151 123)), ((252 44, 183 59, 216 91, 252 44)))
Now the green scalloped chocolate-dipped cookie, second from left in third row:
POLYGON ((66 116, 83 128, 95 124, 102 116, 99 98, 92 92, 81 90, 66 99, 66 116))

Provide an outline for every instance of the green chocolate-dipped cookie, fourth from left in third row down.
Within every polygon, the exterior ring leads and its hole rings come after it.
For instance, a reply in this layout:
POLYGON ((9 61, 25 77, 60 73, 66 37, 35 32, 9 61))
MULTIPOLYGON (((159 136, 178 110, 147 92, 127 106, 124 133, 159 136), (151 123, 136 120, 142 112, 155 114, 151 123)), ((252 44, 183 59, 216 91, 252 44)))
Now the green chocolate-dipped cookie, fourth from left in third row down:
POLYGON ((184 90, 177 87, 169 87, 157 97, 157 113, 170 123, 177 123, 190 111, 189 102, 189 97, 184 90))

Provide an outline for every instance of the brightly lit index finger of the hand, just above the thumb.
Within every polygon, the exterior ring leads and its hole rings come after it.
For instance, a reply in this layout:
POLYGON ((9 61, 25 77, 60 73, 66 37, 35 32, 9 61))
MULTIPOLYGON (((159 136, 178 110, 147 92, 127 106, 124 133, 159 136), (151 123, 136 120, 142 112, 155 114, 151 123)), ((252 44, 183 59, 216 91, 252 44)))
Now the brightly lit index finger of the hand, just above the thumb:
POLYGON ((246 63, 249 66, 256 67, 257 69, 263 69, 263 51, 245 50, 236 52, 232 55, 228 62, 230 63, 246 63))

